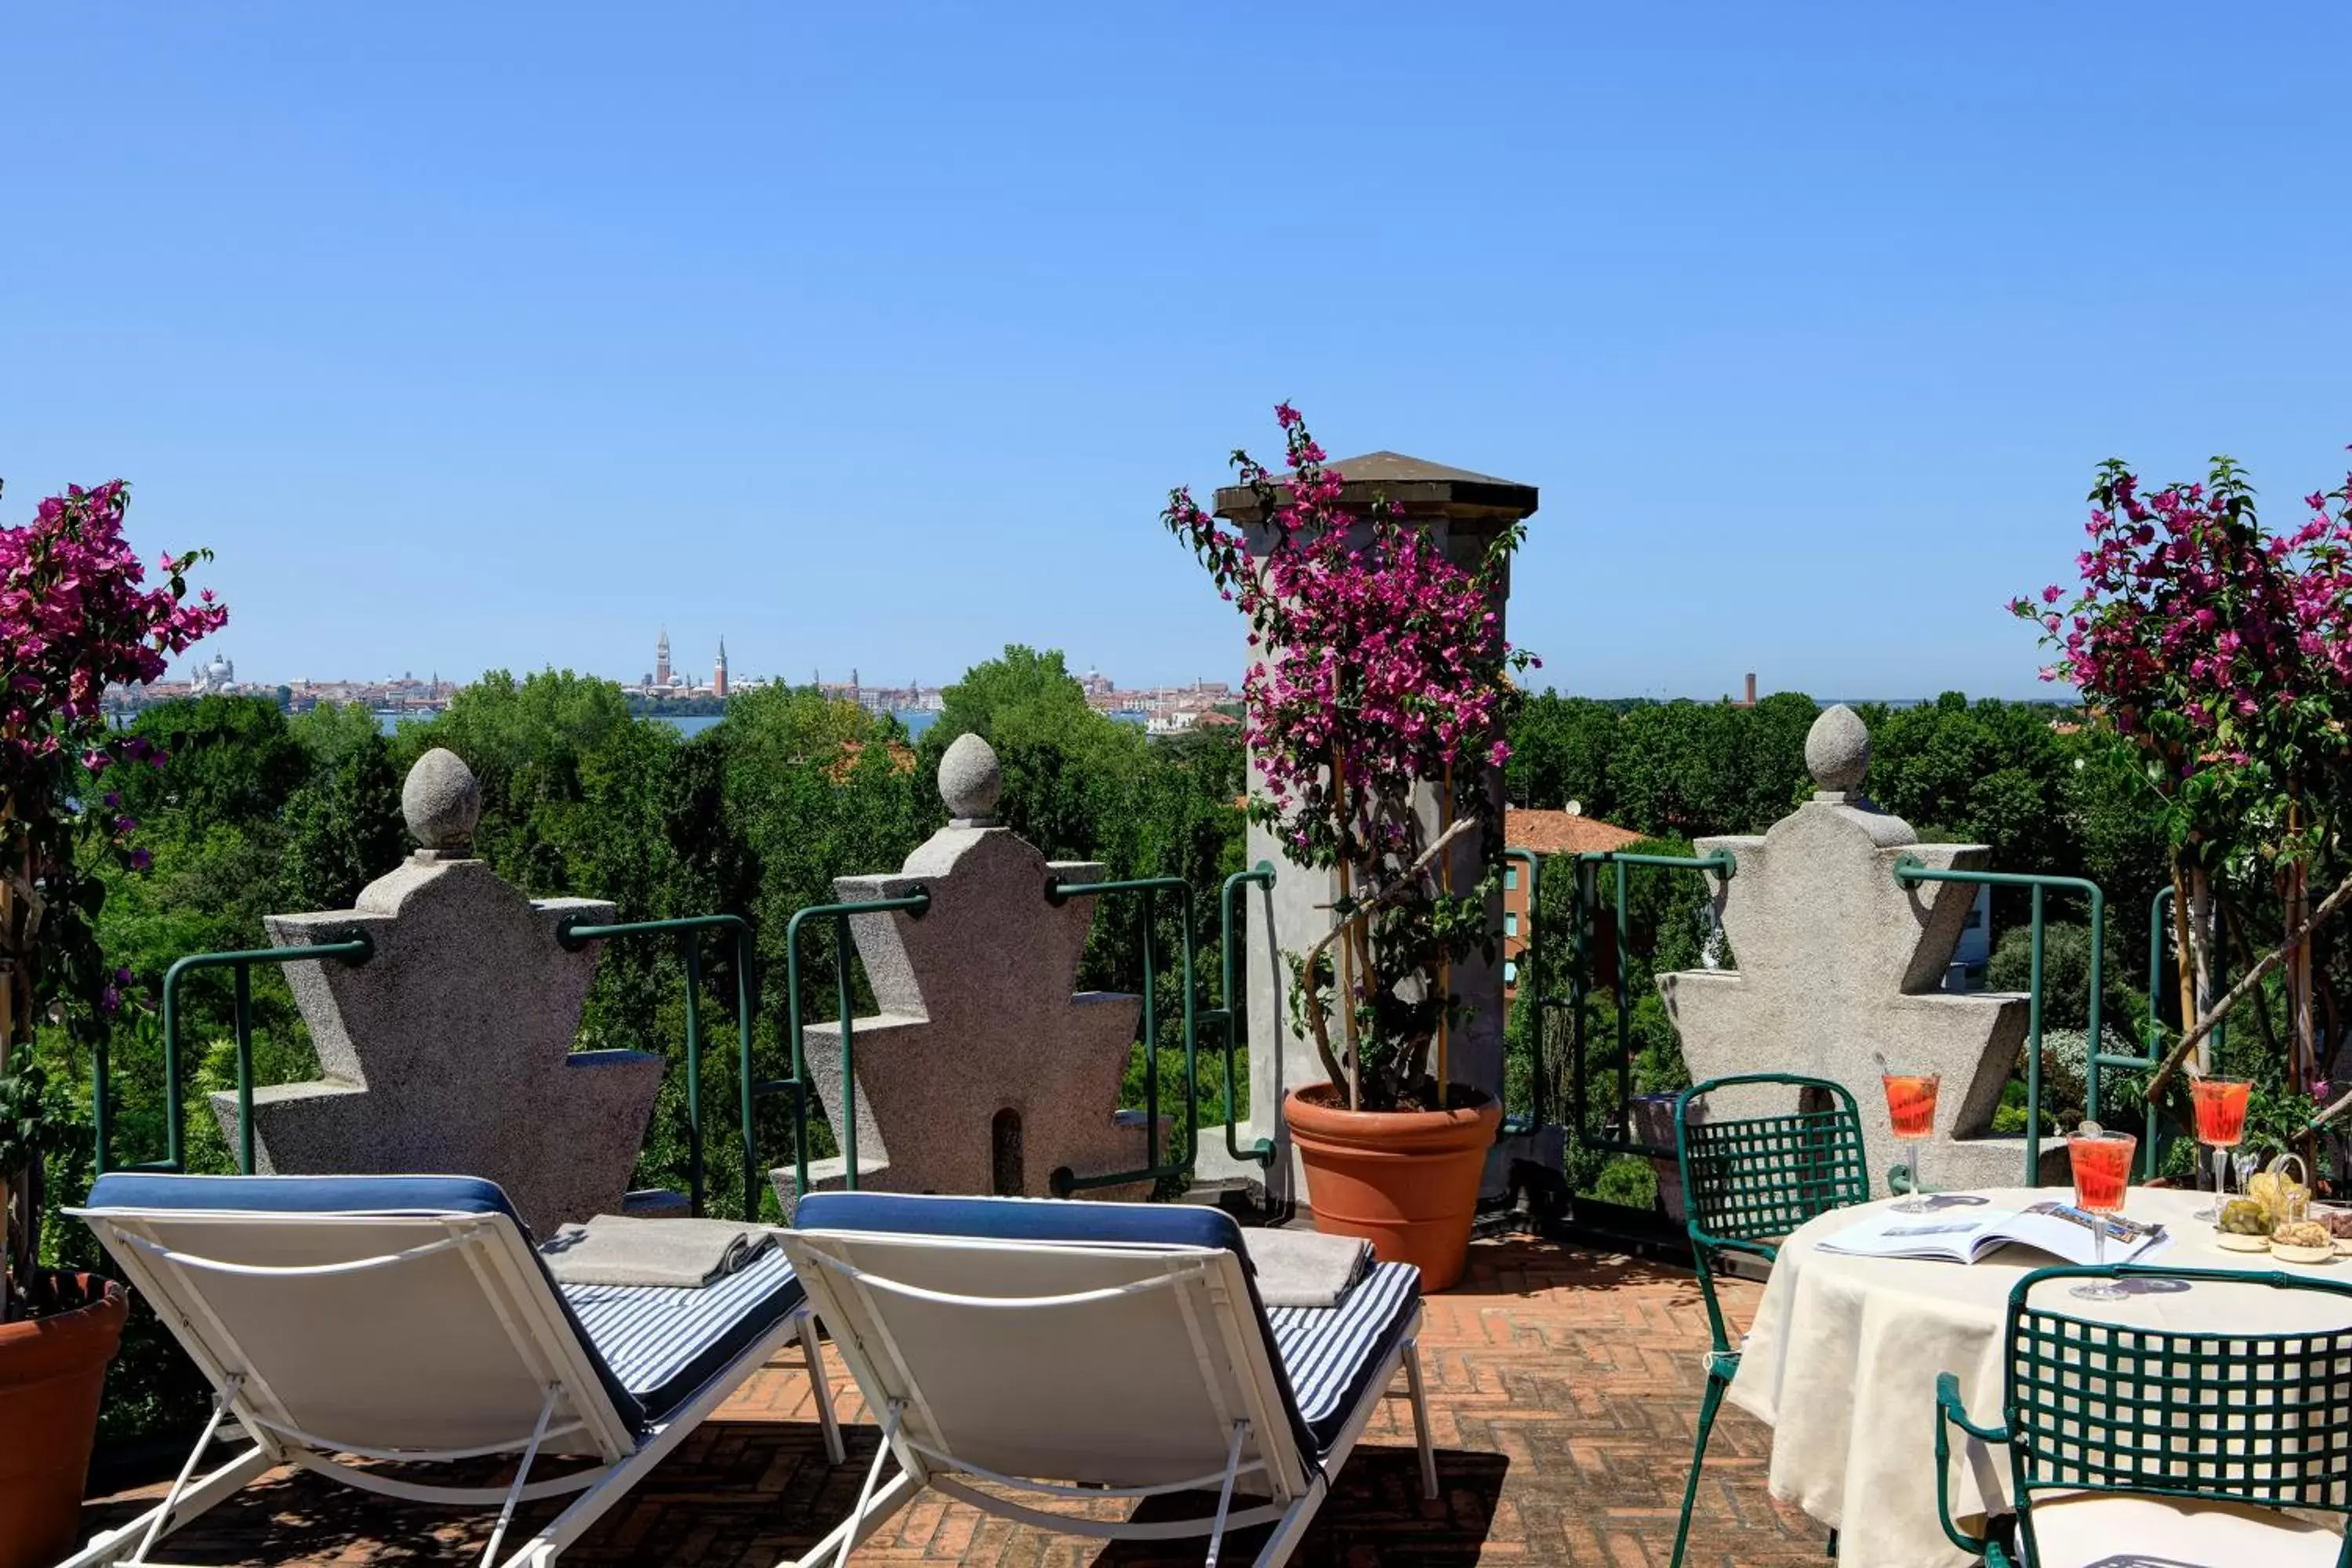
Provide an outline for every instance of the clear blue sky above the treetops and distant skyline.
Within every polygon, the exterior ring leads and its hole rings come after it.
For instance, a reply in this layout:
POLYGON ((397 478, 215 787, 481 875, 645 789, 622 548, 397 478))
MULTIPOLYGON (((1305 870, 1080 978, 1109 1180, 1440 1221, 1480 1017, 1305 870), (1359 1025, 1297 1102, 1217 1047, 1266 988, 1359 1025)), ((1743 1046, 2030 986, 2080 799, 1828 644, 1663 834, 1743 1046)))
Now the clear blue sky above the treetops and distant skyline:
POLYGON ((0 517, 240 677, 1232 677, 1171 482, 1538 484, 1562 689, 2032 693, 2110 454, 2352 442, 2352 7, 0 9, 0 517))

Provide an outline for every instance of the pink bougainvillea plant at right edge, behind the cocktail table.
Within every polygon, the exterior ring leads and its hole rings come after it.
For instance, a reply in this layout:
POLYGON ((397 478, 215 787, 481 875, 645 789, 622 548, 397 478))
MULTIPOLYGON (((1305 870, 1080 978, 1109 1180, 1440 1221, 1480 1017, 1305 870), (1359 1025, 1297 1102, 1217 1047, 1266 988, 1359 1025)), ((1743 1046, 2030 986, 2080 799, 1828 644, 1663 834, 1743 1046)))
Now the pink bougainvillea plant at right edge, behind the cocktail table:
MULTIPOLYGON (((2011 611, 2129 741, 2173 846, 2183 1016, 2213 1001, 2216 879, 2296 877, 2333 832, 2352 722, 2352 480, 2263 527, 2230 458, 2145 494, 2110 461, 2091 489, 2079 585, 2011 611)), ((2291 905, 2293 907, 2293 905, 2291 905)))

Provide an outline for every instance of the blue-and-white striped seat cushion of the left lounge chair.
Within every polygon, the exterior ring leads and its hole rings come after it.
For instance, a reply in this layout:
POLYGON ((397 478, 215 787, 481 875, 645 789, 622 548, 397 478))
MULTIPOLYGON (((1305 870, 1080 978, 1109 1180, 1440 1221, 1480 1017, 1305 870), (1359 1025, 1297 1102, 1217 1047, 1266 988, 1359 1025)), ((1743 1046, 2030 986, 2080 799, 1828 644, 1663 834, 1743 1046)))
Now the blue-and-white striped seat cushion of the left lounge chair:
POLYGON ((699 1291, 661 1286, 564 1286, 595 1352, 659 1422, 743 1354, 804 1291, 790 1260, 769 1248, 757 1262, 699 1291))

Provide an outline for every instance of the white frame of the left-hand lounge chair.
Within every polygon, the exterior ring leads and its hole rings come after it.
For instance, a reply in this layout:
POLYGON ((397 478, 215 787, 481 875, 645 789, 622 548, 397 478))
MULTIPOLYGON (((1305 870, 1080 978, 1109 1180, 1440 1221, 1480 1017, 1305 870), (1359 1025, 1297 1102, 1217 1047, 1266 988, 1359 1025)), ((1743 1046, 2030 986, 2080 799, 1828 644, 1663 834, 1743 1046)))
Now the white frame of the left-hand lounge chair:
MULTIPOLYGON (((816 1321, 807 1302, 776 1319, 701 1389, 663 1413, 640 1436, 614 1408, 595 1361, 564 1321, 555 1293, 539 1269, 539 1260, 508 1215, 181 1208, 78 1208, 68 1213, 80 1215, 99 1232, 132 1288, 146 1295, 181 1347, 195 1359, 214 1387, 214 1408, 205 1434, 195 1441, 188 1462, 162 1502, 127 1526, 99 1535, 59 1563, 59 1568, 172 1568, 148 1556, 158 1542, 280 1465, 299 1465, 343 1486, 409 1502, 440 1502, 468 1509, 496 1507, 499 1523, 480 1559, 485 1568, 501 1561, 499 1547, 506 1540, 517 1505, 579 1493, 572 1507, 503 1559, 503 1568, 546 1568, 793 1338, 800 1340, 809 1359, 809 1382, 816 1396, 826 1453, 835 1465, 844 1458, 823 1361, 816 1349, 816 1321), (172 1232, 181 1239, 181 1246, 167 1244, 160 1232, 172 1232), (186 1237, 191 1232, 219 1232, 230 1251, 282 1255, 289 1260, 249 1262, 188 1251, 186 1237), (536 1387, 543 1389, 536 1413, 517 1403, 503 1410, 503 1432, 489 1436, 466 1432, 466 1441, 459 1443, 381 1446, 360 1441, 358 1432, 320 1434, 301 1429, 287 1415, 287 1401, 299 1392, 278 1387, 273 1375, 261 1371, 280 1359, 256 1345, 252 1331, 240 1338, 238 1328, 230 1326, 233 1312, 223 1309, 223 1302, 216 1300, 216 1281, 245 1279, 268 1284, 355 1276, 365 1276, 369 1291, 395 1300, 393 1293, 402 1284, 428 1284, 419 1274, 426 1265, 447 1260, 447 1255, 461 1260, 473 1274, 482 1300, 503 1331, 506 1347, 520 1366, 529 1368, 536 1387), (245 1427, 254 1439, 252 1448, 238 1453, 212 1474, 198 1476, 195 1469, 205 1460, 214 1434, 228 1420, 245 1427), (501 1453, 517 1455, 520 1460, 510 1486, 433 1486, 379 1474, 336 1458, 430 1465, 501 1453), (532 1481, 534 1462, 546 1455, 581 1455, 590 1458, 593 1465, 555 1479, 532 1481)), ((447 1281, 430 1284, 445 1288, 447 1281)), ((285 1331, 285 1324, 259 1328, 261 1335, 280 1331, 285 1331)), ((365 1345, 355 1349, 365 1352, 365 1345)), ((367 1378, 360 1363, 362 1356, 336 1359, 339 1368, 367 1378)), ((374 1380, 381 1380, 381 1373, 374 1373, 374 1380)), ((449 1425, 452 1429, 480 1429, 496 1425, 499 1418, 501 1413, 452 1410, 449 1425)))

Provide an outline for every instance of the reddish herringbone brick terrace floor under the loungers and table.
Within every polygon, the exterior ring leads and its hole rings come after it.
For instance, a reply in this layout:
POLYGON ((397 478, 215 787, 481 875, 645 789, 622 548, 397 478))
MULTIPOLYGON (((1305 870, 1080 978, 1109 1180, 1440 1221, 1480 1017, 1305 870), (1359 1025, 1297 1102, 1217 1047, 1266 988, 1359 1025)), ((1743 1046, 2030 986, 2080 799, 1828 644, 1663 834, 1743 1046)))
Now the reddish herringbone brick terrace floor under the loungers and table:
MULTIPOLYGON (((1736 1321, 1745 1324, 1755 1293, 1738 1281, 1726 1286, 1736 1321)), ((1686 1269, 1545 1241, 1479 1241, 1461 1288, 1430 1298, 1421 1340, 1442 1497, 1421 1500, 1399 1378, 1294 1561, 1663 1568, 1691 1462, 1705 1345, 1705 1309, 1686 1269)), ((830 1352, 828 1368, 842 1418, 856 1422, 849 1465, 826 1465, 800 1349, 788 1347, 562 1561, 769 1568, 804 1552, 854 1507, 877 1443, 830 1352)), ((1738 1410, 1724 1410, 1715 1425, 1691 1530, 1696 1568, 1823 1561, 1825 1530, 1764 1493, 1769 1441, 1738 1410)), ((96 1500, 87 1523, 111 1528, 158 1493, 96 1500)), ((207 1514, 172 1537, 165 1556, 447 1563, 473 1561, 487 1528, 487 1516, 449 1521, 430 1507, 296 1474, 268 1479, 207 1514)), ((1258 1540, 1261 1533, 1237 1535, 1225 1561, 1247 1563, 1258 1540)), ((1200 1542, 1105 1547, 924 1495, 851 1561, 1155 1568, 1197 1563, 1200 1542)))

